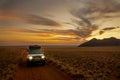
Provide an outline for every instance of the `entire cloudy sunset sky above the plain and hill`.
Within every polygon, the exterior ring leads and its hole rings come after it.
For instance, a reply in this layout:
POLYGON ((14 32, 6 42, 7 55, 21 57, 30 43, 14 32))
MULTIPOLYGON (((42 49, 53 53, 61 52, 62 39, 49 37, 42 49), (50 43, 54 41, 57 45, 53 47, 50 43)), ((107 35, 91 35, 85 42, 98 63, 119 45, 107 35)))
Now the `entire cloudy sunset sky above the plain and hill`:
POLYGON ((120 0, 0 0, 0 45, 120 39, 120 0))

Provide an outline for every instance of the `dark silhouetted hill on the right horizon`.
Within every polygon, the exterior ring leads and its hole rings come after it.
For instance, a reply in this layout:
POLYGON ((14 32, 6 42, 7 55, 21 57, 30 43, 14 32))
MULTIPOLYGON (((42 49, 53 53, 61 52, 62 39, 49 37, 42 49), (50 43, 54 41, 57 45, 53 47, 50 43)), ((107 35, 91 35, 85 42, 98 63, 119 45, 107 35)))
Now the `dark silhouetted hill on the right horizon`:
POLYGON ((79 47, 99 47, 99 46, 120 46, 120 39, 116 39, 114 37, 105 38, 103 40, 93 38, 92 40, 79 45, 79 47))

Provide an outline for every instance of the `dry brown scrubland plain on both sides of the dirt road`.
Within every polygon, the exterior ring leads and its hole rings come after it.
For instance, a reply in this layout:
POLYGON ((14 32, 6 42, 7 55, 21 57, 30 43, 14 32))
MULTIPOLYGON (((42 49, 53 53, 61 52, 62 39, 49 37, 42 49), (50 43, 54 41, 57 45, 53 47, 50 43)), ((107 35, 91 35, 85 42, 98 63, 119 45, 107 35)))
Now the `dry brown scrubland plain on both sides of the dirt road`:
MULTIPOLYGON (((119 47, 43 48, 49 63, 77 80, 119 80, 119 47)), ((21 48, 0 48, 0 80, 13 80, 21 48)))

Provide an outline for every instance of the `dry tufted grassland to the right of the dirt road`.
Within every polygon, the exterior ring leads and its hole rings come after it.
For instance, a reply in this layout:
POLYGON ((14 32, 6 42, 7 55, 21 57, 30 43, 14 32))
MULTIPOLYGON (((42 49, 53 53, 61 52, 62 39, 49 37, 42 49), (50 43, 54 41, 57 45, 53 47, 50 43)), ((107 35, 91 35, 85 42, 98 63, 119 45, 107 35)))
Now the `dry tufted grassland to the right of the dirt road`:
POLYGON ((120 47, 44 48, 48 62, 77 79, 119 80, 120 47))

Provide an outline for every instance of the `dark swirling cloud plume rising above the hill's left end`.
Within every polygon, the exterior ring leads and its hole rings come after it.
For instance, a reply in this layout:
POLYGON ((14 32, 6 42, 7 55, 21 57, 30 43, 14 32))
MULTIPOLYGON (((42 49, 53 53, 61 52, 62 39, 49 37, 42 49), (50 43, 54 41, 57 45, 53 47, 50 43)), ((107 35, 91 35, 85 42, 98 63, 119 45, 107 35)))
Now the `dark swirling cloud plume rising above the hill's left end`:
MULTIPOLYGON (((70 13, 74 16, 79 18, 79 20, 72 19, 73 24, 76 24, 76 30, 73 32, 76 33, 77 35, 86 38, 91 35, 91 33, 98 29, 97 25, 94 25, 89 18, 85 16, 85 13, 87 13, 89 9, 82 8, 78 10, 71 10, 70 13)), ((91 11, 89 11, 91 12, 91 11)))

